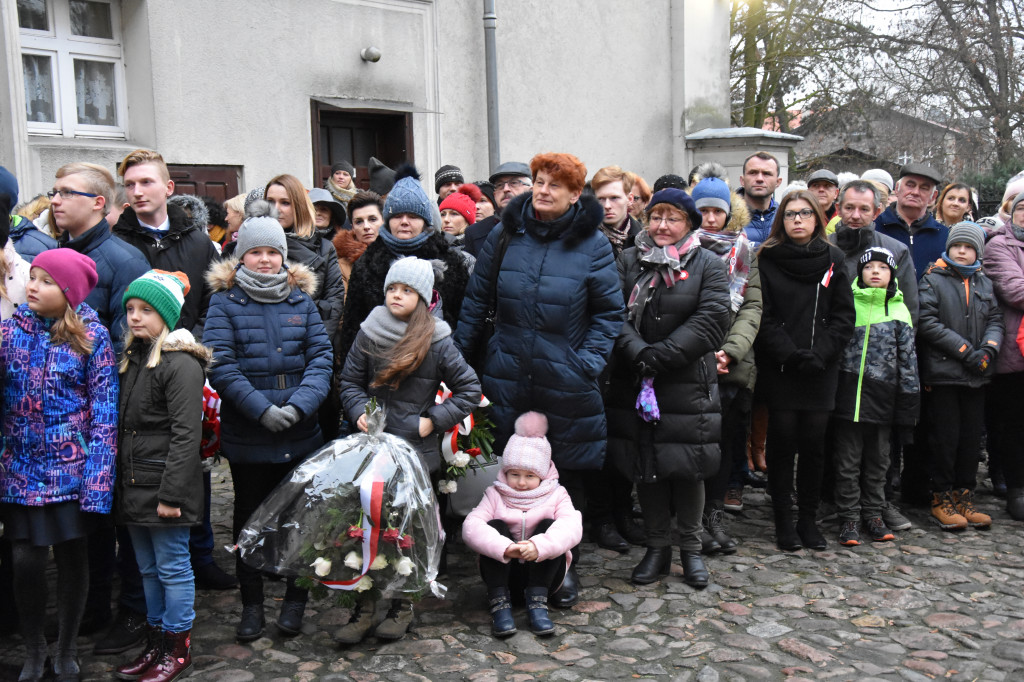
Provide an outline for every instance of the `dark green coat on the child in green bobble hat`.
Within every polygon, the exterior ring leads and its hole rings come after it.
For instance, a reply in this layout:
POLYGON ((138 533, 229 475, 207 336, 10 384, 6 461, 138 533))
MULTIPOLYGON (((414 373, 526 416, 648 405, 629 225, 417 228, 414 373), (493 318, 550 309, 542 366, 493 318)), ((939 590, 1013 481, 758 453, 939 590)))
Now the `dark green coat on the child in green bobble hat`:
POLYGON ((167 337, 160 364, 146 367, 150 345, 125 349, 115 514, 118 523, 196 525, 203 519, 203 384, 212 351, 178 330, 167 337), (179 507, 160 518, 157 504, 179 507))

